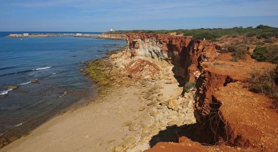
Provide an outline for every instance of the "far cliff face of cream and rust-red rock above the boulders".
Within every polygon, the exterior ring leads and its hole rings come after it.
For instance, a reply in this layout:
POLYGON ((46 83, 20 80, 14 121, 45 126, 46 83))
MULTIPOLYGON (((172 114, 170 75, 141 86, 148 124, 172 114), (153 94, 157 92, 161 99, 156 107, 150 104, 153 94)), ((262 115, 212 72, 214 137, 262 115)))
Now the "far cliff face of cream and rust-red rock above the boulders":
POLYGON ((174 65, 175 77, 184 82, 195 80, 200 62, 212 61, 217 55, 216 45, 189 36, 128 33, 127 45, 131 57, 150 57, 166 60, 174 65))

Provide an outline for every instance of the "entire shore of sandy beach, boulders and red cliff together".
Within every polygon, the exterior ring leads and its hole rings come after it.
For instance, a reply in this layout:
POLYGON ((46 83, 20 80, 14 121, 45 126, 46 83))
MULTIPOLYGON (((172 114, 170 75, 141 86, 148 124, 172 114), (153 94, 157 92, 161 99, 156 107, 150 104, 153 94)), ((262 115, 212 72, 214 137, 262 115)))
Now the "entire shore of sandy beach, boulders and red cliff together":
POLYGON ((251 92, 247 83, 253 70, 275 65, 249 55, 233 62, 231 54, 220 53, 221 43, 187 36, 128 33, 125 38, 127 47, 83 70, 100 86, 94 102, 1 150, 278 149, 274 101, 251 92))

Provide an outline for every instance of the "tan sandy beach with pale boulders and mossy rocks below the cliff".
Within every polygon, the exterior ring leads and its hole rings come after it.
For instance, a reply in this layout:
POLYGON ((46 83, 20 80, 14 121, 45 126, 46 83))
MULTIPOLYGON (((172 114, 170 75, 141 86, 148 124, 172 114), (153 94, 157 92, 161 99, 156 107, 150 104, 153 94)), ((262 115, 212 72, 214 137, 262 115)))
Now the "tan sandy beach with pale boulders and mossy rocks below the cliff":
MULTIPOLYGON (((126 48, 123 48, 112 52, 109 57, 88 62, 84 72, 101 86, 93 102, 45 122, 30 135, 12 142, 0 151, 53 151, 54 148, 60 151, 142 151, 150 148, 152 136, 167 129, 167 126, 194 124, 194 114, 188 110, 188 106, 183 110, 188 117, 182 118, 178 111, 166 108, 168 105, 161 106, 152 98, 165 103, 180 98, 180 101, 187 100, 192 104, 194 90, 187 94, 188 99, 181 98, 182 87, 178 87, 173 75, 151 79, 148 72, 143 72, 148 78, 130 79, 113 66, 116 61, 116 67, 119 67, 122 56, 130 55, 126 53, 126 48), (148 90, 153 90, 153 93, 149 94, 148 90), (72 145, 76 140, 81 142, 72 145)), ((124 60, 129 61, 129 58, 124 60)), ((172 131, 169 134, 175 136, 172 131)))

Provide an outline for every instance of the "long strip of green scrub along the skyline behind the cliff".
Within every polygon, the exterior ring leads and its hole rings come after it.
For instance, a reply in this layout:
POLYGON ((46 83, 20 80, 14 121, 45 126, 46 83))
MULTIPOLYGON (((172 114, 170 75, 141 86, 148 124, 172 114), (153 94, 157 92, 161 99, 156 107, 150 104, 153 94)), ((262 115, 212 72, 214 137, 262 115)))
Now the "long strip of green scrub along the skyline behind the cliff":
POLYGON ((142 33, 157 33, 157 34, 166 34, 171 32, 176 32, 177 34, 183 34, 186 36, 193 36, 196 39, 210 39, 215 41, 218 37, 223 35, 245 35, 248 37, 256 36, 259 39, 264 38, 268 39, 269 37, 275 36, 278 37, 278 28, 270 27, 266 25, 258 25, 253 28, 247 27, 243 28, 234 27, 234 28, 200 28, 200 29, 177 29, 177 30, 117 30, 113 33, 117 34, 125 34, 125 33, 134 33, 134 32, 142 32, 142 33))

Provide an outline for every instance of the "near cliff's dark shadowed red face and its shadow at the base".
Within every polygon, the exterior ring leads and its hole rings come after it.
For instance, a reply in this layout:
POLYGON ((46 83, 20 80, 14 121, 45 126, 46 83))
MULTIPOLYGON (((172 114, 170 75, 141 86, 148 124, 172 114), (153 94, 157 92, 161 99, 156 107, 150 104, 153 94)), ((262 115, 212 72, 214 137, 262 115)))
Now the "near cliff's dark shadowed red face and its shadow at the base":
MULTIPOLYGON (((229 83, 236 82, 236 80, 229 76, 217 75, 207 71, 204 73, 202 77, 199 78, 201 79, 199 80, 199 83, 201 83, 203 90, 197 92, 197 94, 204 94, 205 96, 202 98, 203 100, 210 98, 209 103, 207 101, 202 101, 202 104, 207 104, 207 106, 202 106, 202 108, 206 107, 207 110, 209 110, 208 113, 202 113, 202 110, 197 108, 194 112, 197 120, 196 124, 167 127, 166 130, 160 131, 158 135, 153 136, 150 140, 151 147, 157 142, 180 142, 181 137, 184 136, 203 145, 224 144, 241 147, 247 147, 250 145, 248 139, 234 133, 234 130, 222 115, 220 110, 222 105, 221 101, 213 95, 214 90, 217 90, 221 86, 227 86, 229 83), (204 73, 206 73, 206 77, 204 76, 204 73), (212 85, 212 83, 214 85, 212 85)), ((196 86, 198 86, 198 84, 196 86)), ((198 87, 201 86, 199 84, 198 87)), ((200 98, 198 102, 201 102, 200 98)))

